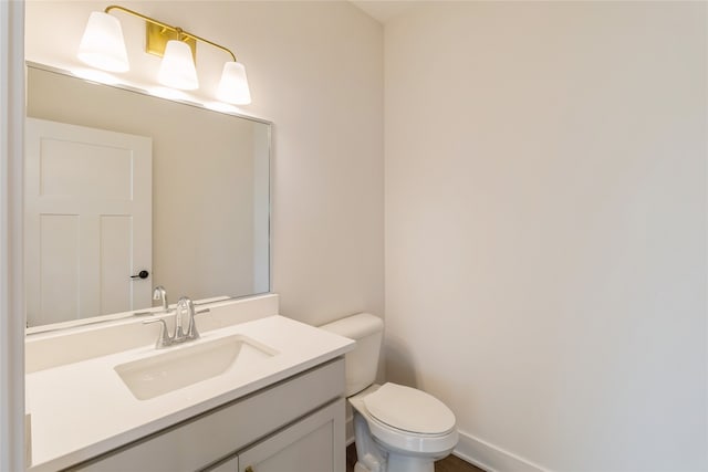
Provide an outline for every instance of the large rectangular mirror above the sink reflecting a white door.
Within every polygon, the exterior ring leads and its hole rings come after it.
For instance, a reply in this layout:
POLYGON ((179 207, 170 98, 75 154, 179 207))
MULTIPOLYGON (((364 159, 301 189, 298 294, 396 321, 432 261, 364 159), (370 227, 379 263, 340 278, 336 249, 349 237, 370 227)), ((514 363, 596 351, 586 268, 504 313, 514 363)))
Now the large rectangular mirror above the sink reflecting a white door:
POLYGON ((269 123, 39 64, 27 114, 32 331, 269 291, 269 123))

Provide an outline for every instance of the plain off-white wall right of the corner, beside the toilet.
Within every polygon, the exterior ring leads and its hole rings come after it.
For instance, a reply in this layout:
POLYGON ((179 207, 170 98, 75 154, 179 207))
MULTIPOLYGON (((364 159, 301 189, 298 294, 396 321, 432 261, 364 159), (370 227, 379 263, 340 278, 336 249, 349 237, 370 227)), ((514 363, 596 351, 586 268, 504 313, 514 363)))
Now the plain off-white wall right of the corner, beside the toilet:
POLYGON ((385 28, 389 378, 499 470, 708 470, 706 3, 417 7, 385 28))

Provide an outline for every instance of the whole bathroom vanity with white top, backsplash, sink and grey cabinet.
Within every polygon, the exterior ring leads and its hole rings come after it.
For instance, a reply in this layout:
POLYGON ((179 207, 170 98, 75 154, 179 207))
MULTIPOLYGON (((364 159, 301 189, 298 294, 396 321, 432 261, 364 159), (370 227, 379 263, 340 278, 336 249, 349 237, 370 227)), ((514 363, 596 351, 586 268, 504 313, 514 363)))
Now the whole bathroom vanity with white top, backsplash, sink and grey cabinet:
POLYGON ((343 472, 354 343, 279 316, 277 295, 209 308, 200 339, 165 349, 131 318, 29 337, 30 470, 343 472))

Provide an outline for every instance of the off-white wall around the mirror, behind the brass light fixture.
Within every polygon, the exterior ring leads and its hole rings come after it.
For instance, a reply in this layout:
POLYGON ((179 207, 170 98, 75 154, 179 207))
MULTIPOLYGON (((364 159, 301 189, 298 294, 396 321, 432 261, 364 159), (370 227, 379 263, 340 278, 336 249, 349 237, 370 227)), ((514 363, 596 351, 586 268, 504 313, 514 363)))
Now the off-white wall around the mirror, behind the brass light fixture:
MULTIPOLYGON (((88 12, 107 4, 30 0, 27 57, 76 62, 88 12), (62 33, 48 34, 56 24, 62 33)), ((246 64, 253 103, 243 111, 274 123, 271 289, 281 313, 312 324, 383 314, 382 25, 343 1, 121 4, 222 43, 246 64)), ((142 22, 115 14, 139 50, 142 22)), ((209 50, 197 52, 207 92, 219 71, 205 71, 225 60, 209 50)), ((134 69, 155 72, 158 60, 140 54, 134 69)))

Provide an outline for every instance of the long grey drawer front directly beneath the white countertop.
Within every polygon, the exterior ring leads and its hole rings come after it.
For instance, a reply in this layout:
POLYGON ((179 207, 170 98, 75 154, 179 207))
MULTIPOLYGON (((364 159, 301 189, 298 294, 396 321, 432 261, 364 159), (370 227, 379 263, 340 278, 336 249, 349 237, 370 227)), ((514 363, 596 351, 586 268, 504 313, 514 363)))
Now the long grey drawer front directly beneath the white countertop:
POLYGON ((195 471, 343 395, 340 357, 70 470, 195 471))

